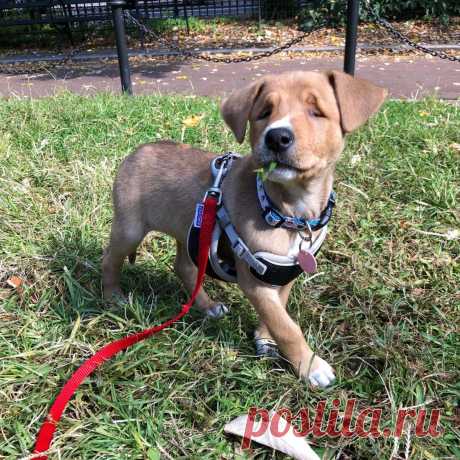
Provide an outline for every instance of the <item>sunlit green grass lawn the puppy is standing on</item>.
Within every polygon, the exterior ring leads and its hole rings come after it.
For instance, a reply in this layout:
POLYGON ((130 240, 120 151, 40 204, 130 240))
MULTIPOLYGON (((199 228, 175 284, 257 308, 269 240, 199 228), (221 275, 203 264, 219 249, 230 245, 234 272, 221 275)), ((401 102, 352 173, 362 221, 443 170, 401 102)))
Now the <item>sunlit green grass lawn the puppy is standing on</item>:
MULTIPOLYGON (((125 267, 129 305, 101 299, 115 170, 137 144, 169 138, 248 151, 208 99, 0 102, 0 458, 30 452, 50 401, 83 359, 186 300, 171 271, 173 241, 157 234, 125 267), (204 115, 200 124, 183 128, 194 114, 204 115), (13 275, 22 290, 9 287, 13 275)), ((237 288, 209 282, 230 315, 203 322, 193 312, 106 363, 71 401, 51 458, 282 458, 257 445, 241 452, 224 424, 251 406, 296 412, 352 397, 384 409, 382 428, 399 407, 439 407, 444 434, 313 440, 328 458, 459 458, 459 143, 459 108, 434 100, 388 102, 349 138, 319 273, 299 278, 289 302, 335 366, 335 385, 313 390, 288 367, 257 360, 253 309, 237 288)))

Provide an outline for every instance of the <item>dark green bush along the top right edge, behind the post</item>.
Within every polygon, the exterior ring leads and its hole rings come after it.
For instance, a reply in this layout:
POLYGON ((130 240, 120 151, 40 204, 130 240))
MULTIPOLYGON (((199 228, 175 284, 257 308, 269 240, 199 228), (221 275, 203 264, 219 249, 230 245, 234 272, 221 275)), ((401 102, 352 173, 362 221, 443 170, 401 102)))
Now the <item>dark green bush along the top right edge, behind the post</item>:
MULTIPOLYGON (((300 24, 308 29, 319 22, 326 21, 330 25, 343 25, 346 21, 345 0, 313 0, 311 6, 302 10, 300 24)), ((371 10, 378 16, 391 20, 415 18, 435 18, 446 24, 452 16, 460 16, 458 0, 372 0, 360 2, 360 19, 372 20, 371 10)))

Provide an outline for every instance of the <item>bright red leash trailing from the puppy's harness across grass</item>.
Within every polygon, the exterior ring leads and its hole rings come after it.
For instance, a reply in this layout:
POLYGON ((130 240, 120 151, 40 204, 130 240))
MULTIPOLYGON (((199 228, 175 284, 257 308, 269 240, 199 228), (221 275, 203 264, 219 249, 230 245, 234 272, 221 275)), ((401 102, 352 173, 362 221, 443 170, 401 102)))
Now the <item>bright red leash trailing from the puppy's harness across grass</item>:
MULTIPOLYGON (((77 388, 86 379, 86 377, 88 377, 95 369, 103 364, 104 361, 107 361, 112 356, 116 355, 119 351, 126 350, 126 348, 130 347, 131 345, 134 345, 141 340, 148 339, 153 334, 156 334, 168 326, 171 326, 171 324, 175 323, 176 321, 179 321, 188 313, 190 307, 193 305, 193 302, 196 299, 196 296, 198 295, 201 285, 203 284, 206 265, 208 262, 209 248, 211 246, 212 232, 216 222, 217 203, 217 198, 207 194, 204 201, 203 219, 201 223, 199 239, 198 275, 190 300, 185 305, 182 305, 181 312, 174 316, 174 318, 165 321, 159 326, 154 326, 142 332, 138 332, 137 334, 128 335, 123 339, 109 343, 108 345, 102 347, 93 356, 91 356, 91 358, 87 359, 74 372, 72 377, 70 377, 70 379, 62 388, 61 392, 58 394, 57 398, 54 400, 48 416, 46 417, 46 421, 43 423, 38 433, 34 454, 42 454, 49 449, 51 441, 53 440, 54 431, 56 430, 56 426, 62 416, 62 413, 64 412, 64 409, 67 406, 67 403, 69 402, 70 398, 72 398, 77 388)), ((46 460, 48 455, 44 454, 34 458, 46 460)))

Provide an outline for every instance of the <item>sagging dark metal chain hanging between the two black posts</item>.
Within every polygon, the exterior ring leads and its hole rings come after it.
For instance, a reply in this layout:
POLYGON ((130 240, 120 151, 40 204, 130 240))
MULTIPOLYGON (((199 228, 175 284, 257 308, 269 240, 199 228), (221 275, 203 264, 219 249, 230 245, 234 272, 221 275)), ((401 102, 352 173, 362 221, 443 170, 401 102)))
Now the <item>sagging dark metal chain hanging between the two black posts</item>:
POLYGON ((303 32, 299 36, 289 40, 285 44, 278 46, 276 48, 273 48, 269 51, 264 51, 262 53, 257 53, 252 56, 240 56, 240 57, 225 57, 225 58, 219 58, 219 57, 213 57, 213 56, 208 56, 206 54, 196 54, 193 51, 189 51, 186 49, 181 48, 178 45, 171 45, 171 43, 166 42, 166 40, 162 40, 155 32, 153 32, 152 29, 148 28, 145 24, 143 24, 139 19, 135 18, 128 10, 124 10, 124 15, 125 18, 134 24, 136 27, 142 30, 142 32, 152 38, 154 38, 157 41, 163 42, 169 49, 176 51, 178 54, 180 54, 183 57, 189 57, 189 58, 195 58, 195 59, 201 59, 203 61, 207 62, 215 62, 215 63, 220 63, 224 62, 226 64, 230 63, 238 63, 238 62, 250 62, 250 61, 258 61, 259 59, 263 59, 266 57, 273 56, 274 54, 282 53, 283 51, 286 51, 287 49, 291 48, 294 45, 297 45, 300 43, 305 37, 309 36, 311 33, 316 32, 317 30, 321 29, 324 27, 324 23, 317 24, 317 26, 309 30, 308 32, 303 32))

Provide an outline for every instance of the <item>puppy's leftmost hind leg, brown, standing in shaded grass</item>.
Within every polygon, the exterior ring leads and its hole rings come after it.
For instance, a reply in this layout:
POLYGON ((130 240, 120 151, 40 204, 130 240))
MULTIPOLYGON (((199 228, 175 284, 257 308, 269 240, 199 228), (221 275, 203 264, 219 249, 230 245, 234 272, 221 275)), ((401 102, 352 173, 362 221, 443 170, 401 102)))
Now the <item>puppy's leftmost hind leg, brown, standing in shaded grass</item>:
MULTIPOLYGON (((129 228, 120 225, 116 220, 112 223, 110 243, 104 251, 102 260, 102 284, 104 298, 112 299, 114 296, 123 298, 120 288, 121 267, 126 257, 133 258, 136 249, 144 239, 145 232, 141 225, 130 225, 129 228)), ((134 256, 135 257, 135 256, 134 256)))

